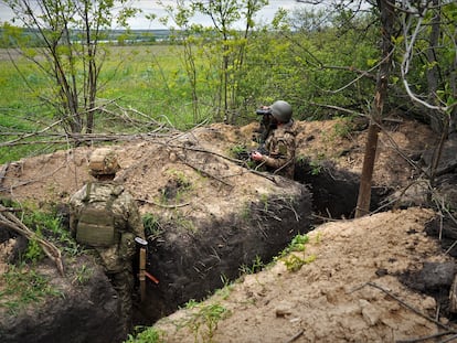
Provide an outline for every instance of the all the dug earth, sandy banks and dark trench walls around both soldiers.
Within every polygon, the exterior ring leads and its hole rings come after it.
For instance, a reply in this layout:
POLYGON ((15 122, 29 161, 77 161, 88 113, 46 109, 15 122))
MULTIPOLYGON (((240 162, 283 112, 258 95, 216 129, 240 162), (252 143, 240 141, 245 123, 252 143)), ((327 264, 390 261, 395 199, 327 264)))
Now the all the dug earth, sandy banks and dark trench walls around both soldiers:
MULTIPOLYGON (((114 146, 118 179, 147 218, 148 270, 159 280, 147 283, 146 301, 134 294, 136 323, 155 324, 163 342, 449 337, 456 330, 448 296, 457 235, 454 217, 440 221, 442 207, 428 202, 423 179, 436 135, 415 121, 387 121, 373 179, 378 213, 351 219, 363 122, 298 122, 295 181, 236 160, 234 150, 252 148, 255 126, 212 125, 114 146), (298 234, 308 234, 305 249, 287 250, 298 234), (216 289, 222 291, 210 297, 216 289), (200 302, 178 310, 190 301, 200 302)), ((444 151, 453 147, 448 142, 444 151)), ((60 208, 65 218, 70 195, 88 180, 93 149, 3 165, 1 196, 60 208)), ((446 172, 433 189, 447 208, 456 208, 453 158, 448 153, 439 167, 446 172)), ((0 231, 6 270, 21 239, 0 231)), ((64 265, 65 276, 50 259, 35 266, 57 296, 20 313, 0 308, 2 342, 125 340, 116 293, 91 256, 64 256, 64 265), (82 266, 92 271, 84 282, 77 278, 82 266)))

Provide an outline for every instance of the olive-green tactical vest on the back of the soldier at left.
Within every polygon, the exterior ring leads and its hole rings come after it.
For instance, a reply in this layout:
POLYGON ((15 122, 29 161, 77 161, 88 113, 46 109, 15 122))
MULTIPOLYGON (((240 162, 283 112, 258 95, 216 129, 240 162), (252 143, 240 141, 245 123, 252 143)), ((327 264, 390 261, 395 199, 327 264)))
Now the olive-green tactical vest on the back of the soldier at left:
POLYGON ((89 202, 91 184, 83 201, 76 226, 76 240, 89 247, 109 247, 119 242, 119 233, 115 228, 115 216, 111 210, 115 196, 106 202, 89 202))

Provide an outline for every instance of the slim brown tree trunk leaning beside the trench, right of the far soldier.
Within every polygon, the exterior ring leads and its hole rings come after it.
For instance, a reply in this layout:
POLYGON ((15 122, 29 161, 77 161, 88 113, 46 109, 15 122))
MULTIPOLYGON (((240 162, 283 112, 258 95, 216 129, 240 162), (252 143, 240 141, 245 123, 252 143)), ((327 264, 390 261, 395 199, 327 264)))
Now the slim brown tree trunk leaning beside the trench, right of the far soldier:
POLYGON ((387 96, 389 76, 391 73, 391 60, 393 44, 391 42, 395 20, 394 8, 389 0, 379 0, 378 7, 381 17, 382 30, 382 62, 378 72, 376 93, 371 109, 371 120, 366 138, 365 154, 363 158, 362 175, 360 178, 359 197, 355 207, 355 217, 361 217, 370 212, 371 182, 373 179, 374 161, 378 150, 378 133, 383 116, 384 101, 387 96))

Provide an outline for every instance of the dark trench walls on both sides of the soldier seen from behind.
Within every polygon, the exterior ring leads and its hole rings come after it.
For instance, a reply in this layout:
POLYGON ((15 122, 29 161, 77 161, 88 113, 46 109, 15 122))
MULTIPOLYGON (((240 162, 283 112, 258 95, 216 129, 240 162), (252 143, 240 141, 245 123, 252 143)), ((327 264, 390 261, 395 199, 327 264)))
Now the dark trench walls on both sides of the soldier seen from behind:
MULTIPOLYGON (((148 242, 147 269, 159 283, 147 281, 144 302, 138 292, 132 296, 134 328, 150 326, 191 299, 205 299, 246 269, 262 270, 297 234, 306 234, 312 225, 326 218, 353 216, 359 175, 330 163, 322 164, 318 172, 301 163, 297 164, 295 181, 301 193, 293 206, 284 196, 273 196, 267 211, 265 203, 252 203, 248 221, 237 215, 210 218, 199 223, 198 233, 172 225, 163 227, 159 239, 148 242)), ((387 193, 373 189, 372 208, 378 208, 387 193)), ((86 256, 79 258, 77 266, 88 265, 86 256)), ((55 269, 52 265, 47 268, 55 269)), ((93 278, 74 288, 71 297, 53 300, 44 312, 0 323, 2 342, 123 342, 115 290, 102 268, 94 268, 93 278)))

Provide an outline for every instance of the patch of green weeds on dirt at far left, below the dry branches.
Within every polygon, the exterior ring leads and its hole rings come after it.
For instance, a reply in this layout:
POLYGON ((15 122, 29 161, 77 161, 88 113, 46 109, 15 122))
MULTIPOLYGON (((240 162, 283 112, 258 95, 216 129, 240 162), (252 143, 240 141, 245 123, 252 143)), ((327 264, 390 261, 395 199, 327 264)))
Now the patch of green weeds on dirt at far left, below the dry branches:
POLYGON ((12 314, 17 314, 30 303, 42 301, 47 296, 62 296, 61 291, 49 283, 46 277, 25 265, 9 265, 8 270, 0 275, 0 280, 6 286, 0 290, 0 306, 12 314))

